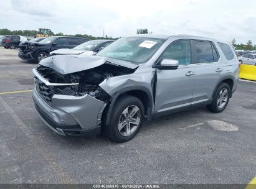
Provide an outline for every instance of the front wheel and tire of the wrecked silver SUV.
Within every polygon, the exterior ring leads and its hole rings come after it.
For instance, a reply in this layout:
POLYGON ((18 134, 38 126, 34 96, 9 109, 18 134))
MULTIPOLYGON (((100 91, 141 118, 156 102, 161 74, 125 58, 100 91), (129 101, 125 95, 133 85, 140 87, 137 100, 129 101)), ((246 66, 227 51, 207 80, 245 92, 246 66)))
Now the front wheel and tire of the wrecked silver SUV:
POLYGON ((103 126, 103 132, 111 141, 129 141, 140 131, 144 113, 144 106, 140 99, 130 95, 121 96, 113 107, 110 124, 103 126), (131 114, 132 111, 133 113, 136 111, 133 116, 125 116, 125 113, 131 114), (135 120, 136 124, 134 124, 135 120))

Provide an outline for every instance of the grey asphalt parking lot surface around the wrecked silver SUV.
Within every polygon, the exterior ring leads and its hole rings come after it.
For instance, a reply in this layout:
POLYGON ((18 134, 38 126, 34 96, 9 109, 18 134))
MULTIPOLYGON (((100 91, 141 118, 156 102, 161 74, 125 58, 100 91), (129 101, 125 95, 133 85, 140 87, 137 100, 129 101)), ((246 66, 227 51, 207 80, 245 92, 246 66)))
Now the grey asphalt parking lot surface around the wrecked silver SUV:
POLYGON ((0 183, 245 184, 256 176, 256 83, 239 81, 220 114, 164 116, 116 144, 47 128, 31 98, 36 66, 0 47, 0 183))

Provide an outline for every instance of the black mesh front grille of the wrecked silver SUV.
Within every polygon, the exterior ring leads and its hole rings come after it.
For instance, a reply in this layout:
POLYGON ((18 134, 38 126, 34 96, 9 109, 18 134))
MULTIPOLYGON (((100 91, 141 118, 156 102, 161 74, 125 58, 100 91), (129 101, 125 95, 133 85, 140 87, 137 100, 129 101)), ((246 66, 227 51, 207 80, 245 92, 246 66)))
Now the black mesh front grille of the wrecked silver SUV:
POLYGON ((44 101, 52 105, 52 96, 54 96, 53 86, 47 86, 35 76, 36 91, 44 101))

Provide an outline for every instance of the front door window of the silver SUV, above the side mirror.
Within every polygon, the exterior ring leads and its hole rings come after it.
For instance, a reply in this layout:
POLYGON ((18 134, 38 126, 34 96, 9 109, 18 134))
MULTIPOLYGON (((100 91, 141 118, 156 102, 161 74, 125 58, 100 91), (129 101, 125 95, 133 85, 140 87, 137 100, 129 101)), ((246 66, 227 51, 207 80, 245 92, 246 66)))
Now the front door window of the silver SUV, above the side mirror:
POLYGON ((176 41, 170 44, 162 55, 162 59, 178 60, 179 65, 191 63, 191 49, 189 40, 176 41))

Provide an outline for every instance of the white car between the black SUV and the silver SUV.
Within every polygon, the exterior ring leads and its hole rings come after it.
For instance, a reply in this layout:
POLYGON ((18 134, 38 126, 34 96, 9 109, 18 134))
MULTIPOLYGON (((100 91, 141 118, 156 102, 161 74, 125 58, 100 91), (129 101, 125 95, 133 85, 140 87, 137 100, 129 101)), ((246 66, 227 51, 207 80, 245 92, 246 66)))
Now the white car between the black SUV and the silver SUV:
POLYGON ((83 44, 78 45, 74 48, 61 48, 50 52, 52 55, 94 55, 103 48, 107 47, 115 40, 89 40, 83 44))

